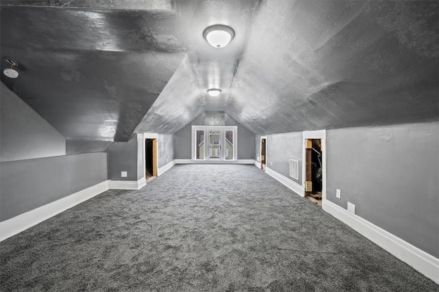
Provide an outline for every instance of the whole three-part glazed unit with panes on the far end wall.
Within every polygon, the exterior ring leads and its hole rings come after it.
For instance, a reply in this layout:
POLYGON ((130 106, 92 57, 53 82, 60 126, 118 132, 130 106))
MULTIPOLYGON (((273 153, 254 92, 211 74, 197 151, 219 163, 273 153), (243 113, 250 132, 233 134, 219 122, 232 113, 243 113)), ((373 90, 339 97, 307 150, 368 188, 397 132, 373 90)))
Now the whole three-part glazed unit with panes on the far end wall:
POLYGON ((235 160, 236 138, 236 126, 192 126, 192 159, 235 160))

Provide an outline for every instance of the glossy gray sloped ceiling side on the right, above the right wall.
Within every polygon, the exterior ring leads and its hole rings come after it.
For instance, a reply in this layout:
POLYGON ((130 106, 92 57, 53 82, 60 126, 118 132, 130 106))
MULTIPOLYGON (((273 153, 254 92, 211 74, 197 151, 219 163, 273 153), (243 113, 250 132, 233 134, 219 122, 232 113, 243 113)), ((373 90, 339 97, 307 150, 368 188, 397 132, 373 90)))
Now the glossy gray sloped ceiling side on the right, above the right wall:
POLYGON ((266 1, 230 116, 256 133, 438 117, 438 2, 266 1))

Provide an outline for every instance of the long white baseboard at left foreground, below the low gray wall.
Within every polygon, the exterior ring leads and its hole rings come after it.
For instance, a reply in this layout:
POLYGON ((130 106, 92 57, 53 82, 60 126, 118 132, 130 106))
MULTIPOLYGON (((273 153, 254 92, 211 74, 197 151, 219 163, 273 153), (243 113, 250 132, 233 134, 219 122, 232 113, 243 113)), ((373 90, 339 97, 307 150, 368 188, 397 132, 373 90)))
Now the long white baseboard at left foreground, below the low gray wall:
POLYGON ((103 181, 92 187, 82 189, 82 191, 78 191, 75 194, 60 198, 59 200, 0 222, 0 241, 21 233, 27 228, 66 211, 106 190, 108 190, 108 181, 103 181))

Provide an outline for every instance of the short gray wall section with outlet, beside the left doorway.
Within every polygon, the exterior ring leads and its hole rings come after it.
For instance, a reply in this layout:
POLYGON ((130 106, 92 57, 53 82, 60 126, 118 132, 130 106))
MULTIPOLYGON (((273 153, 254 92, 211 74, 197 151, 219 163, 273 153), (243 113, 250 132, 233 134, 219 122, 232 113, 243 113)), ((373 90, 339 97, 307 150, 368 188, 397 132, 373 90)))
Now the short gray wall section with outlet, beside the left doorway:
MULTIPOLYGON (((138 181, 139 162, 143 159, 143 149, 138 155, 139 135, 132 137, 128 142, 114 142, 108 148, 108 179, 111 181, 138 181), (126 171, 127 177, 121 177, 121 172, 126 171)), ((143 170, 141 170, 143 176, 143 170)), ((140 177, 141 177, 140 176, 140 177)))

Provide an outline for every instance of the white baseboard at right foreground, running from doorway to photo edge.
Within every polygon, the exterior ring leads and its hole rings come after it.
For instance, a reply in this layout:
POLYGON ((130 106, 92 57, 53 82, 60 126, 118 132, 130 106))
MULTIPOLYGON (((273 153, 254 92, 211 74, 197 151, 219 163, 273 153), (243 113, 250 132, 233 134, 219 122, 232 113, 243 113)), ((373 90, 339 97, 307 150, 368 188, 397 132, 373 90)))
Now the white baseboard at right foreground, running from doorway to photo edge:
POLYGON ((396 256, 396 258, 411 265, 414 269, 417 269, 420 273, 439 284, 438 258, 427 254, 427 252, 416 248, 416 246, 392 235, 392 233, 379 228, 358 215, 349 213, 346 209, 329 200, 322 202, 322 208, 373 243, 396 256))

